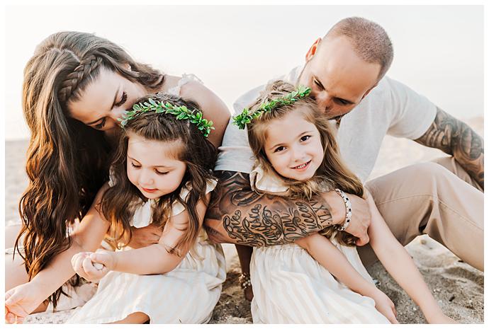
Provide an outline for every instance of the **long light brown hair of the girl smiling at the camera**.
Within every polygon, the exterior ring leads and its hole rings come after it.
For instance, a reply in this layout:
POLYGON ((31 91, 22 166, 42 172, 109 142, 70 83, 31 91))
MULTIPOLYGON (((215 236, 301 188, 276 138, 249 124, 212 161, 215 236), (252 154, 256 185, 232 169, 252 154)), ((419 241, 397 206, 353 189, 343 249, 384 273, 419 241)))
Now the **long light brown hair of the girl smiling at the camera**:
MULTIPOLYGON (((275 98, 282 98, 295 90, 296 88, 286 81, 277 80, 269 83, 259 98, 249 106, 249 110, 254 112, 262 103, 269 102, 275 98)), ((342 161, 335 135, 332 132, 332 126, 325 115, 318 110, 315 100, 312 97, 300 98, 294 103, 281 105, 269 112, 264 112, 247 124, 247 130, 249 146, 257 159, 257 164, 264 168, 266 175, 276 175, 276 177, 283 180, 288 187, 288 197, 310 200, 310 198, 318 193, 334 190, 335 188, 363 197, 364 186, 361 180, 342 161), (272 120, 281 120, 295 110, 300 111, 306 121, 315 125, 317 131, 320 133, 322 149, 325 152, 322 163, 317 168, 313 178, 304 182, 279 175, 271 166, 264 150, 266 129, 269 127, 269 122, 272 120)), ((337 231, 333 226, 323 229, 320 233, 330 238, 335 231, 337 232, 336 238, 339 243, 346 246, 354 246, 356 241, 354 236, 345 231, 337 231)))

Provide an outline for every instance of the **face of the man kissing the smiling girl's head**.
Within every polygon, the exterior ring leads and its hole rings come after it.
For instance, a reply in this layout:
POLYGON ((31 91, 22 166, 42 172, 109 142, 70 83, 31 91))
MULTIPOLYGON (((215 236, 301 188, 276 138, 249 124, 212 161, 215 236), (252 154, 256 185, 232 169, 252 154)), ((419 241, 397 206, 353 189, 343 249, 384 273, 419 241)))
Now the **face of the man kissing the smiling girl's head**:
POLYGON ((299 84, 311 88, 329 119, 351 111, 376 86, 380 64, 358 57, 346 37, 326 37, 306 55, 299 84))

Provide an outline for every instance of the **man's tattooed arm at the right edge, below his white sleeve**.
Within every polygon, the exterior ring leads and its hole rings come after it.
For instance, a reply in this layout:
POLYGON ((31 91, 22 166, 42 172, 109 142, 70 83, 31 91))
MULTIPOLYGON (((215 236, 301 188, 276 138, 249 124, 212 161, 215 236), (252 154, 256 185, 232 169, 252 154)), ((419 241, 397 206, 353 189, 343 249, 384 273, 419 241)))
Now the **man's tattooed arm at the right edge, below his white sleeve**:
POLYGON ((484 141, 466 123, 437 108, 434 122, 415 142, 454 156, 484 189, 484 141))

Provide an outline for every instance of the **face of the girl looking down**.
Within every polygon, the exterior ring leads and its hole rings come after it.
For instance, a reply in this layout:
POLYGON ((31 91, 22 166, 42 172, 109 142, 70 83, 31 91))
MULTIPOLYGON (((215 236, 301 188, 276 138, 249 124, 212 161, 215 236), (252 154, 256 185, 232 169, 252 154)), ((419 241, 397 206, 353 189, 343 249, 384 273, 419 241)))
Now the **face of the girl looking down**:
POLYGON ((128 178, 148 199, 157 199, 179 187, 186 163, 176 158, 181 142, 157 142, 129 132, 128 178))

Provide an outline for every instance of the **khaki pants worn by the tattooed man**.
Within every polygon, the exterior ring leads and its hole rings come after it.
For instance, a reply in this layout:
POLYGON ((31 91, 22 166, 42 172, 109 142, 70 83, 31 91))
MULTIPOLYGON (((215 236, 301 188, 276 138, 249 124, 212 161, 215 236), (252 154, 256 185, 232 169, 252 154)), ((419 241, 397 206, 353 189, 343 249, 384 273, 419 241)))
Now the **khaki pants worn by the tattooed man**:
MULTIPOLYGON (((428 234, 464 262, 484 270, 484 194, 454 158, 401 168, 366 186, 403 246, 428 234)), ((369 245, 358 251, 366 266, 377 260, 369 245)))

